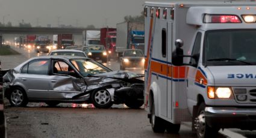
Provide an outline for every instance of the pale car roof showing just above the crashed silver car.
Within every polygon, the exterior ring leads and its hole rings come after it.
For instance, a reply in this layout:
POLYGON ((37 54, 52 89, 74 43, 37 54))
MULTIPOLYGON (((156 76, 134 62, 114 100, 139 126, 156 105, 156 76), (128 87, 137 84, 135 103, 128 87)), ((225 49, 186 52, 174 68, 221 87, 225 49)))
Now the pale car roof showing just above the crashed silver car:
POLYGON ((87 58, 86 53, 84 53, 81 50, 76 50, 76 49, 57 49, 57 50, 52 50, 49 55, 68 55, 68 56, 82 56, 87 58))

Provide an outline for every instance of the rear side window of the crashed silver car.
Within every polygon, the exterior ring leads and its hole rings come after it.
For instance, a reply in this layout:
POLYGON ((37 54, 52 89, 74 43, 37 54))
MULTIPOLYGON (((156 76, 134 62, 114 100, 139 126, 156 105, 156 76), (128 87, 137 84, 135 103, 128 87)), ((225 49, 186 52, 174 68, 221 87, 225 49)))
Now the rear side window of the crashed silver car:
POLYGON ((22 68, 22 71, 23 71, 22 73, 26 73, 26 70, 27 70, 28 74, 44 74, 44 75, 48 74, 48 68, 49 68, 48 59, 34 60, 28 63, 27 65, 25 65, 22 68))

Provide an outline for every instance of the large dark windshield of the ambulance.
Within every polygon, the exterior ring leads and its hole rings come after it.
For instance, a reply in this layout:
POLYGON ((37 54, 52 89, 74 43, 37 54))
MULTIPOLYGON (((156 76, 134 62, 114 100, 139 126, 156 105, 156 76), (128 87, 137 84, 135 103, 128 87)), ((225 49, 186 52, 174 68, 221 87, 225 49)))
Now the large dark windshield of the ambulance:
POLYGON ((256 29, 207 31, 204 43, 206 65, 255 65, 256 29))

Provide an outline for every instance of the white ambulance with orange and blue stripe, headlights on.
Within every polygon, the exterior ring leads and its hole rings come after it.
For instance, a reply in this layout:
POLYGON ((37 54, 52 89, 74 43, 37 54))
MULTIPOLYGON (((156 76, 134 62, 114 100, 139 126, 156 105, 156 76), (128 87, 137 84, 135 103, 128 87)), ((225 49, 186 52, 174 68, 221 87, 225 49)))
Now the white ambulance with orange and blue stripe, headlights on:
POLYGON ((156 133, 256 129, 256 2, 145 2, 145 110, 156 133))

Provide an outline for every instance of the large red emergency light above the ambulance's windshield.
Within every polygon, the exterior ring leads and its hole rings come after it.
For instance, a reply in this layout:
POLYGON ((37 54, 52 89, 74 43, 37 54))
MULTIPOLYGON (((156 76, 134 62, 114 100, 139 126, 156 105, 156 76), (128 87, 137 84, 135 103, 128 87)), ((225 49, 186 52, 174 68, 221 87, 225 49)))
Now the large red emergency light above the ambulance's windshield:
POLYGON ((242 23, 236 15, 226 14, 205 14, 204 23, 242 23))

